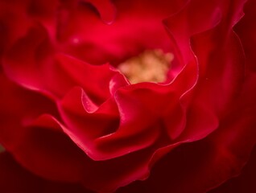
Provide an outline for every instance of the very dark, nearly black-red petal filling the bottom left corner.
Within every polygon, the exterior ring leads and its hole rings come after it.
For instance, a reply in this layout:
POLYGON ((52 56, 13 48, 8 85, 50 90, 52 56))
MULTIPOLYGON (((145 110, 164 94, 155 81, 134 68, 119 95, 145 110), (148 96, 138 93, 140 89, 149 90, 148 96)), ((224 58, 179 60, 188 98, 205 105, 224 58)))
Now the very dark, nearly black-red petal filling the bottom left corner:
POLYGON ((25 170, 7 152, 0 154, 0 191, 19 193, 72 192, 92 193, 78 184, 56 183, 41 179, 25 170))

